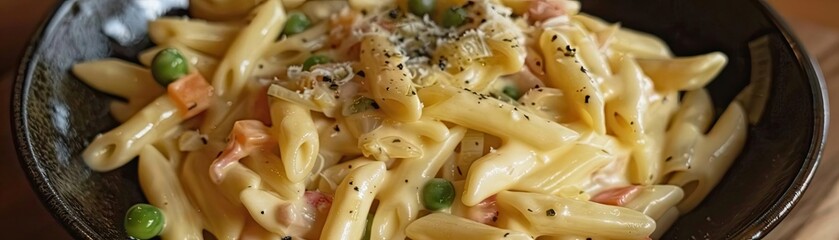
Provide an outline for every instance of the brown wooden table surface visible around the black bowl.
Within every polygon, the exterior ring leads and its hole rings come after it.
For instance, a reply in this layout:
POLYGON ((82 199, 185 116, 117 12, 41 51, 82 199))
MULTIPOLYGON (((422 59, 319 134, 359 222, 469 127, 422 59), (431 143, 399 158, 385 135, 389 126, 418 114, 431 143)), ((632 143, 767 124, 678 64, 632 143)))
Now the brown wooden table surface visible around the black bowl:
MULTIPOLYGON (((69 239, 41 206, 16 159, 9 126, 11 72, 28 37, 56 0, 0 1, 0 232, 3 239, 69 239)), ((824 72, 831 112, 839 113, 839 1, 769 0, 778 6, 824 72)), ((767 239, 839 239, 839 117, 832 118, 824 158, 808 194, 767 239), (816 199, 815 192, 829 192, 816 199)))

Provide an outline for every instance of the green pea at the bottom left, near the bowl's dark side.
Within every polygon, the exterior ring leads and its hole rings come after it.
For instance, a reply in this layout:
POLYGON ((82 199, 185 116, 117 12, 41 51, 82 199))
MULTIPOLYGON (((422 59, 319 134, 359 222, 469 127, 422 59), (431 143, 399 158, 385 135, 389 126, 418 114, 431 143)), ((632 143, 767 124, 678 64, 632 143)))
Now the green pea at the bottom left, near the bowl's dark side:
POLYGON ((148 204, 135 204, 125 213, 125 232, 136 239, 150 239, 163 231, 163 212, 148 204))

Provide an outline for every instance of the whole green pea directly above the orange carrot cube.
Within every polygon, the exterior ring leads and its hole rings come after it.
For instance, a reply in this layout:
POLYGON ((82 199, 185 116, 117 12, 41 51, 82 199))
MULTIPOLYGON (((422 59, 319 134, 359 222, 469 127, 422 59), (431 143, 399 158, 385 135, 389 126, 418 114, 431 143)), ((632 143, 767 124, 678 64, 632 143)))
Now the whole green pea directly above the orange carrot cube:
POLYGON ((167 86, 189 74, 189 63, 177 49, 163 49, 157 55, 154 55, 151 62, 151 73, 157 83, 167 86))

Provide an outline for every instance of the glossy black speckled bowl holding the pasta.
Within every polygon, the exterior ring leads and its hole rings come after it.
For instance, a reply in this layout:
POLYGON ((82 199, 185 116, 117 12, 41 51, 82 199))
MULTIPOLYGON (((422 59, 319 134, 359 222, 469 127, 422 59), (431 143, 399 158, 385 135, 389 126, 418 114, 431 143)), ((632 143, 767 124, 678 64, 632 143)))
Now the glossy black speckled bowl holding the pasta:
MULTIPOLYGON (((35 35, 15 82, 12 116, 20 161, 43 203, 78 238, 126 238, 123 213, 144 202, 135 164, 96 173, 82 162, 90 140, 117 123, 108 115, 111 98, 68 70, 103 57, 133 60, 150 46, 144 34, 128 46, 103 34, 102 24, 111 17, 145 31, 132 2, 62 3, 35 35)), ((665 238, 759 238, 775 227, 807 188, 828 122, 818 67, 780 18, 759 0, 584 0, 583 10, 658 35, 677 55, 725 52, 730 63, 709 86, 718 110, 751 81, 763 80, 767 87, 759 93, 768 95, 765 111, 750 127, 744 152, 665 238)))

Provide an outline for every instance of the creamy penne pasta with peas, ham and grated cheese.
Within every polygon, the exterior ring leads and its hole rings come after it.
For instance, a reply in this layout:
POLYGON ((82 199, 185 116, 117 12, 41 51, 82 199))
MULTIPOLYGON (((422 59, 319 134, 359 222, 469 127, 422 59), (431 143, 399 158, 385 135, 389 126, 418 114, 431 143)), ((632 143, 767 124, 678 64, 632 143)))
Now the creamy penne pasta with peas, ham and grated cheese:
POLYGON ((73 67, 121 122, 83 158, 138 159, 138 239, 658 238, 746 141, 704 89, 727 58, 579 9, 193 0, 73 67))

